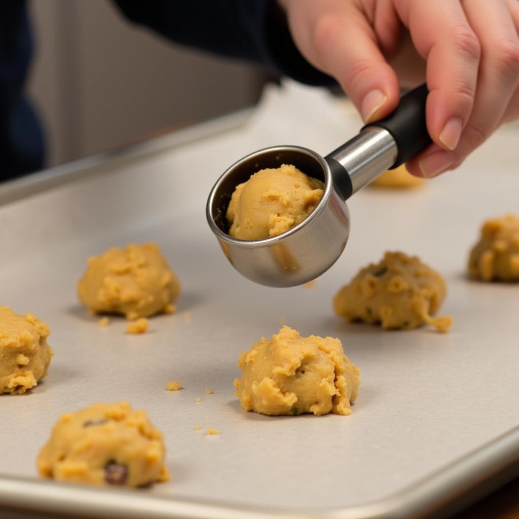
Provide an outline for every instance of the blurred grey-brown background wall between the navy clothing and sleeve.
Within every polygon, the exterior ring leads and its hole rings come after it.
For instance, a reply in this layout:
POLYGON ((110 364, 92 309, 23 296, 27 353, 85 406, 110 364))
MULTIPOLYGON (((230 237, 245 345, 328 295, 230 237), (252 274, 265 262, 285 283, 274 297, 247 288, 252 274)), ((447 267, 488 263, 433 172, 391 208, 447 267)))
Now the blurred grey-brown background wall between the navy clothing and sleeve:
POLYGON ((267 80, 132 25, 110 0, 33 0, 30 14, 47 166, 252 105, 267 80))

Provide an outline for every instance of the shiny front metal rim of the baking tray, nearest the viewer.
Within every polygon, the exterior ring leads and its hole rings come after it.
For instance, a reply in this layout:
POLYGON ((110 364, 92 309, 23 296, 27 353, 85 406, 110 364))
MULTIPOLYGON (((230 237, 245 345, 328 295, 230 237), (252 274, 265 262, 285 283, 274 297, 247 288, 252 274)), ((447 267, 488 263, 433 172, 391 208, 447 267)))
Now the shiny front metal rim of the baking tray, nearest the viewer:
MULTIPOLYGON (((519 427, 387 499, 347 509, 262 509, 145 491, 65 485, 0 475, 0 506, 103 519, 382 519, 447 517, 519 474, 519 427), (499 480, 498 485, 492 481, 499 480)), ((12 513, 12 512, 11 512, 12 513)))

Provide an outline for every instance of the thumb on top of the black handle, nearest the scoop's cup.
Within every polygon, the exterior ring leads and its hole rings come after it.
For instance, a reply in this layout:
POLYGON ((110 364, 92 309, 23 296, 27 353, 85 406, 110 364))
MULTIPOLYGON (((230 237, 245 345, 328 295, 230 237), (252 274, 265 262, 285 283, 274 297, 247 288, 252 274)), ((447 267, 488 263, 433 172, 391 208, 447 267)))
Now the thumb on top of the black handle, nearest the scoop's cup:
POLYGON ((371 25, 359 12, 350 10, 343 17, 318 20, 313 31, 313 50, 365 122, 385 117, 397 106, 397 75, 379 50, 371 25))

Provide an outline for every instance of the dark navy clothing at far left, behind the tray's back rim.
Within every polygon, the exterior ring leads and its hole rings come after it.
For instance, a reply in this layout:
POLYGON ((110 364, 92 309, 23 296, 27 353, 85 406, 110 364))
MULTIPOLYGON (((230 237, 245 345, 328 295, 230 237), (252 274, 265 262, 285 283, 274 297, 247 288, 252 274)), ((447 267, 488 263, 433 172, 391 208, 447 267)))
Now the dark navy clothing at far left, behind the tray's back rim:
POLYGON ((23 95, 32 54, 25 0, 0 6, 0 182, 40 169, 42 129, 23 95))

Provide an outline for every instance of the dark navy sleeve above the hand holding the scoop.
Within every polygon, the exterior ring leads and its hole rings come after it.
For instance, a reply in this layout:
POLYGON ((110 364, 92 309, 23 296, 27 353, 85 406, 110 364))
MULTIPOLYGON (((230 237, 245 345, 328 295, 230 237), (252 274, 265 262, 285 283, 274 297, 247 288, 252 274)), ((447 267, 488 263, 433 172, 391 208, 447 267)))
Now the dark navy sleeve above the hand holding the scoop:
POLYGON ((275 0, 114 0, 131 21, 176 43, 253 61, 310 85, 333 85, 297 50, 275 0))

